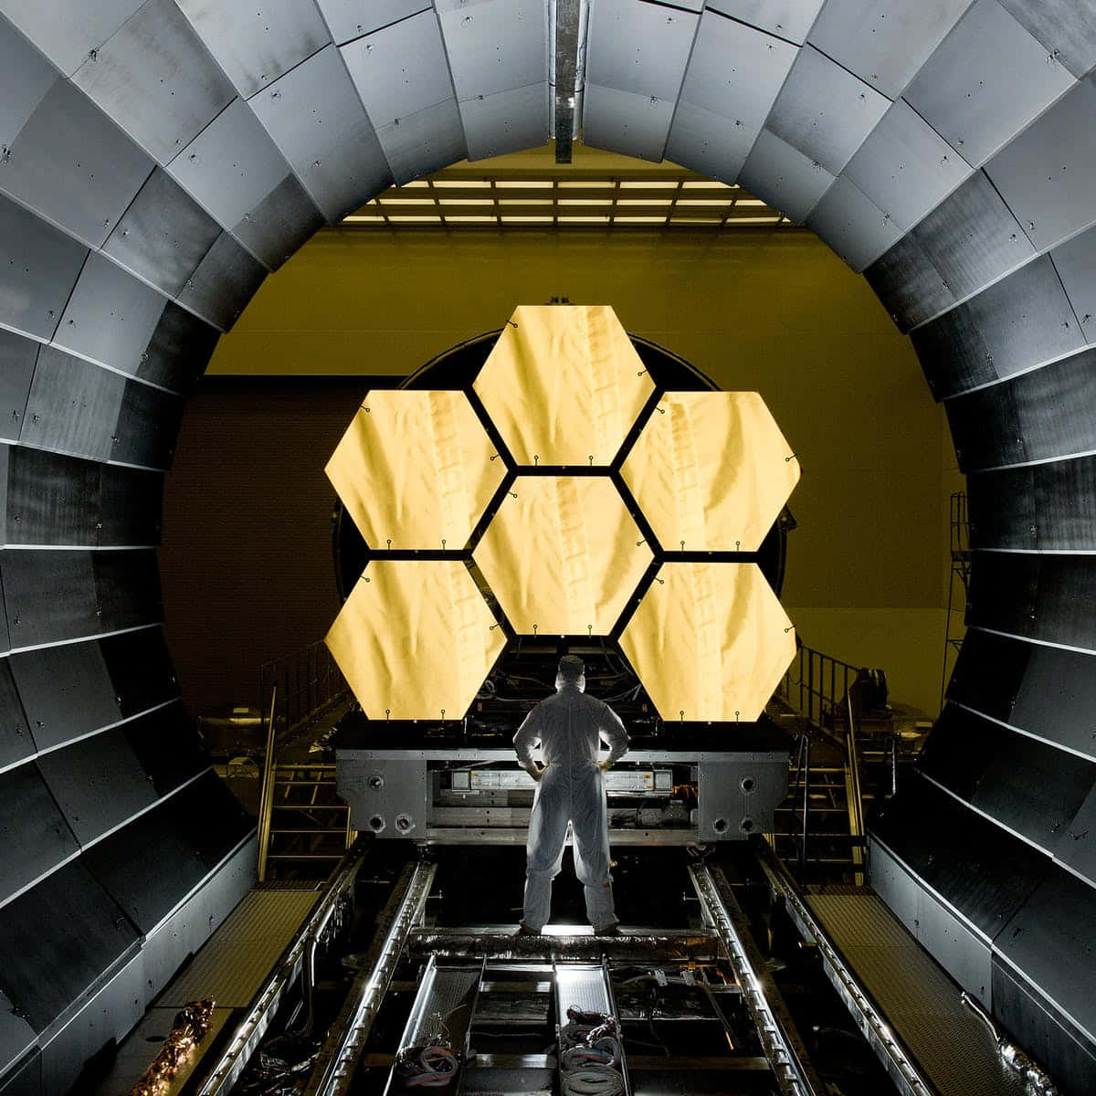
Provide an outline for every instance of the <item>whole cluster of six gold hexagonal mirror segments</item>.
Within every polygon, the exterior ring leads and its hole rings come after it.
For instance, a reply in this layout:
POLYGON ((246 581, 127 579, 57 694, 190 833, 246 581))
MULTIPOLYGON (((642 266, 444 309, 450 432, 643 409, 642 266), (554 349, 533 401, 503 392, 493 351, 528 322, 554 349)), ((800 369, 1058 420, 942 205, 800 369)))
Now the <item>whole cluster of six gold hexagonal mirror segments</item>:
POLYGON ((795 633, 743 557, 799 478, 762 398, 651 409, 605 306, 517 308, 471 387, 370 392, 328 465, 370 556, 328 636, 366 715, 460 719, 512 632, 616 639, 666 721, 756 719, 795 633))

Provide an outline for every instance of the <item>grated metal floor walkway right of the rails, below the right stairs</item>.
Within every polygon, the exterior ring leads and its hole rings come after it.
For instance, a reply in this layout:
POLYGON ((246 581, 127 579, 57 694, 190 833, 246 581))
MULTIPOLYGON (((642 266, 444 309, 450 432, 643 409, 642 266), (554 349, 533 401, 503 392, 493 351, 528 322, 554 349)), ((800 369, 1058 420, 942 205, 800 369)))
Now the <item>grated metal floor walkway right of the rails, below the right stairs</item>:
POLYGON ((940 1096, 1024 1096, 960 987, 877 894, 804 899, 940 1096))

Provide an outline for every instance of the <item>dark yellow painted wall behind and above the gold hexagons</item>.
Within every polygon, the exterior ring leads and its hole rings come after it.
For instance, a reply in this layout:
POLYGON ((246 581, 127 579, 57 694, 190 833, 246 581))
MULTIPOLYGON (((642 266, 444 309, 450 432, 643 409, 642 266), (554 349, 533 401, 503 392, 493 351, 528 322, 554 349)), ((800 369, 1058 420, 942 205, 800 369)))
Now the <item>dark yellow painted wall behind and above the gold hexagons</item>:
POLYGON ((763 393, 803 468, 784 592, 803 641, 882 666, 895 699, 935 715, 947 425, 909 340, 808 232, 327 231, 209 372, 406 374, 557 295, 610 304, 721 387, 763 393))

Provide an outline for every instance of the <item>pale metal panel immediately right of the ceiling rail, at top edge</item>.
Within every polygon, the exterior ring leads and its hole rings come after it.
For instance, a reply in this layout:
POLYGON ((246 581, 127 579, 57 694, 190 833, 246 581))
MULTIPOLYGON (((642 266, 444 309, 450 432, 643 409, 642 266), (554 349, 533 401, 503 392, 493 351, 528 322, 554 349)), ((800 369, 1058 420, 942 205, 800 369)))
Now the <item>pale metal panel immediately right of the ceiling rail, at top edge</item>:
POLYGON ((594 0, 586 32, 586 84, 672 104, 681 90, 697 19, 693 12, 642 0, 594 0))

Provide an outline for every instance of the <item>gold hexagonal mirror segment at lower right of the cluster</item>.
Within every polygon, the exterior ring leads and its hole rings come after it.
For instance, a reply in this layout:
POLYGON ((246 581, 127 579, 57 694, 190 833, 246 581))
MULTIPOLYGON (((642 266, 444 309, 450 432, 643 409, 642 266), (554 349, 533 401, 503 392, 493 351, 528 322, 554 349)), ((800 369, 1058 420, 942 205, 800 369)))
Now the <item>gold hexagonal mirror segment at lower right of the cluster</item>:
POLYGON ((620 648, 667 722, 749 721, 772 697, 796 636, 754 563, 665 563, 620 648))

